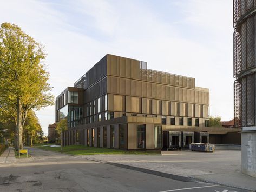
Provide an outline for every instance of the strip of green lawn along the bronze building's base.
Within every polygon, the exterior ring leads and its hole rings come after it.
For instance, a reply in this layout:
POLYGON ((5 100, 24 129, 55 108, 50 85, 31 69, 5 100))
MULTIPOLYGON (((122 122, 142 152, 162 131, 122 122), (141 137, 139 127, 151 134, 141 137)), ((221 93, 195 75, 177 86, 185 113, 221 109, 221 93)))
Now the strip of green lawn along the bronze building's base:
POLYGON ((50 147, 50 146, 38 146, 36 148, 50 150, 50 151, 58 151, 62 153, 72 154, 72 155, 95 155, 95 154, 130 154, 130 155, 154 155, 160 154, 157 151, 126 151, 120 149, 108 149, 108 148, 98 148, 98 147, 87 147, 84 145, 70 145, 62 147, 50 147))

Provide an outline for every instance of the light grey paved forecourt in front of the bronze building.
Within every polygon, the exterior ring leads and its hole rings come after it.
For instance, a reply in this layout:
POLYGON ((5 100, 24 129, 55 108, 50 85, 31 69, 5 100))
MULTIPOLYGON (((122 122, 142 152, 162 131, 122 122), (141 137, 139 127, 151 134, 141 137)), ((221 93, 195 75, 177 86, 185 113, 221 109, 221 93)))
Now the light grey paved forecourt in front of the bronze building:
POLYGON ((165 155, 84 155, 88 160, 119 163, 256 191, 256 178, 241 173, 241 151, 214 153, 168 151, 165 155))

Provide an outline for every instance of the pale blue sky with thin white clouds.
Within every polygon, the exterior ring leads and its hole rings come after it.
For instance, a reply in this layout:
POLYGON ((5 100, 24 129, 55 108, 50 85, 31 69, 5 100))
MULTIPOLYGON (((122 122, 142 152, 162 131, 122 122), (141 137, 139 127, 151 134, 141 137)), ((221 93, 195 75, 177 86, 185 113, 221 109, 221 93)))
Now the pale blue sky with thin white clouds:
MULTIPOLYGON (((107 53, 209 88, 210 114, 233 118, 233 1, 1 2, 0 23, 19 25, 45 46, 52 94, 73 86, 107 53)), ((36 112, 44 133, 55 107, 36 112)))

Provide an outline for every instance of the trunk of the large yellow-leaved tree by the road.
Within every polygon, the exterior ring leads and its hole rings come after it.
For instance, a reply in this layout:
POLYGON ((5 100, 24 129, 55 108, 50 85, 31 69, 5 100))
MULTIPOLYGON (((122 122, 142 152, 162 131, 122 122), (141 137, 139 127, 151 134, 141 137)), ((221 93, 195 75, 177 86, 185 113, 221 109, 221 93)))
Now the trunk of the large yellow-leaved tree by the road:
POLYGON ((23 149, 23 143, 22 143, 22 105, 21 105, 21 99, 18 97, 17 98, 17 149, 23 149))

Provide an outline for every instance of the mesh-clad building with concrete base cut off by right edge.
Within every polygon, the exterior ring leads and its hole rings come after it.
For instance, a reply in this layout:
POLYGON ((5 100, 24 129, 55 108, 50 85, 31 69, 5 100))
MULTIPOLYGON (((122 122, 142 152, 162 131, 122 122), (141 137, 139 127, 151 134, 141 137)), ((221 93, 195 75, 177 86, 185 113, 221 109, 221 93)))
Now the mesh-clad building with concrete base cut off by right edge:
POLYGON ((256 177, 256 1, 234 0, 234 120, 242 127, 242 172, 256 177))

